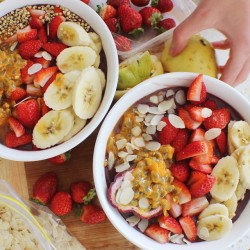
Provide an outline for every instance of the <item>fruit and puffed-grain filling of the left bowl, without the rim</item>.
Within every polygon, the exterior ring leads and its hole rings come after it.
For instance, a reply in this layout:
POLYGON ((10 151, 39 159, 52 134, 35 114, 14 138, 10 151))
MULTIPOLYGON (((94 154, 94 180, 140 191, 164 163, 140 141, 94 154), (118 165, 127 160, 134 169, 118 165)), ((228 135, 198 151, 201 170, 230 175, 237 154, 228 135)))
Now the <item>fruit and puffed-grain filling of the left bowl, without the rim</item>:
POLYGON ((0 141, 39 150, 69 140, 95 115, 106 84, 99 35, 60 5, 0 18, 0 141))

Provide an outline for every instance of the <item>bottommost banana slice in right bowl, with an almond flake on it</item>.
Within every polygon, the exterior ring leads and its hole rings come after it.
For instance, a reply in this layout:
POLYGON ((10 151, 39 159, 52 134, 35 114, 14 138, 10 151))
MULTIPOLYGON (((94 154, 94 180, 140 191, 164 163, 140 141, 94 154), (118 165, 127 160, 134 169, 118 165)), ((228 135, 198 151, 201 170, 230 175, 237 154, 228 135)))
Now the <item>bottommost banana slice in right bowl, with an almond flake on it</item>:
POLYGON ((202 218, 197 223, 198 237, 202 240, 218 240, 232 229, 232 220, 227 216, 216 214, 202 218))

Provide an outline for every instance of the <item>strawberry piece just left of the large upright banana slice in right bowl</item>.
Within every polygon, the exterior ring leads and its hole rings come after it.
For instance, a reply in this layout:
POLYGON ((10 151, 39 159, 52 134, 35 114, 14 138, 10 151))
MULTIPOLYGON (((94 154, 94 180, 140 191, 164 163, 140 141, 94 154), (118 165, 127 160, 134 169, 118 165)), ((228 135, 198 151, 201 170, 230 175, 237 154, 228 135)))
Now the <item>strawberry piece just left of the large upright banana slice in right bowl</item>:
POLYGON ((210 192, 215 183, 215 177, 207 174, 205 178, 198 180, 190 186, 192 197, 201 197, 210 192))

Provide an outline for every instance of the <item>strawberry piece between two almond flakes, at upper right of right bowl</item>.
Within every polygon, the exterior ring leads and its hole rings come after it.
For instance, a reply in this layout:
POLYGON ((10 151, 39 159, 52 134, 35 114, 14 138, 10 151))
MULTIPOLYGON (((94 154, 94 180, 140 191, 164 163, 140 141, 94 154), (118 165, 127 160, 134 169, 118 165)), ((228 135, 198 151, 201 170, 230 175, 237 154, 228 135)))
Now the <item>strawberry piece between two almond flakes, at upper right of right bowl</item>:
POLYGON ((230 110, 227 108, 216 109, 212 115, 203 122, 205 128, 220 128, 224 129, 231 119, 230 110))

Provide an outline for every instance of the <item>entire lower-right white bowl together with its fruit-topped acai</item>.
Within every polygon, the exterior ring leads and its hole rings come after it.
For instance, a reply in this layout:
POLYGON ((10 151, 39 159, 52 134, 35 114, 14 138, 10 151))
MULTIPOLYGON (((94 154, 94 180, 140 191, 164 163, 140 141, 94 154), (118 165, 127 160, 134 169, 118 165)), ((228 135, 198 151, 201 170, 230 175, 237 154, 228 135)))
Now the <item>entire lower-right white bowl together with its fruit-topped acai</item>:
POLYGON ((248 230, 249 102, 202 74, 144 81, 104 120, 94 150, 100 202, 142 249, 225 249, 248 230))

